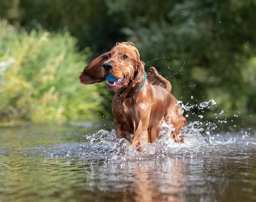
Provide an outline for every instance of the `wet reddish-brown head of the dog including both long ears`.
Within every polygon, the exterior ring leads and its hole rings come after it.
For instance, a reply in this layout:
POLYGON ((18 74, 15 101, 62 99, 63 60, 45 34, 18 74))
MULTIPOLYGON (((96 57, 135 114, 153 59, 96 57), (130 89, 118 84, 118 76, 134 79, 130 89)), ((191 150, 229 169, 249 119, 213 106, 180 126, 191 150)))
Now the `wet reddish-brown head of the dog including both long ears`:
POLYGON ((91 84, 106 80, 107 75, 114 77, 107 81, 107 88, 122 97, 130 97, 143 83, 144 62, 140 61, 139 51, 132 42, 116 43, 85 67, 79 79, 83 84, 91 84))

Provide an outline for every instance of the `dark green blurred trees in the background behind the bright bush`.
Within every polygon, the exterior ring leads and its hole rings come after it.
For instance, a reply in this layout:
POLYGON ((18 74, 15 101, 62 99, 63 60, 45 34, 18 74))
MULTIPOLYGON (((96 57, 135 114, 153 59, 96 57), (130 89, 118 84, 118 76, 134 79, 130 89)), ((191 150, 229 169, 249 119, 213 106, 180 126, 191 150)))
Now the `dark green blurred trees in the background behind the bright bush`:
MULTIPOLYGON (((0 4, 0 16, 16 29, 42 26, 52 32, 68 27, 79 39, 80 50, 91 48, 87 62, 116 42, 134 42, 146 68, 155 66, 184 103, 215 99, 221 110, 256 111, 256 0, 1 0, 0 4)), ((107 91, 100 90, 108 99, 107 91)))

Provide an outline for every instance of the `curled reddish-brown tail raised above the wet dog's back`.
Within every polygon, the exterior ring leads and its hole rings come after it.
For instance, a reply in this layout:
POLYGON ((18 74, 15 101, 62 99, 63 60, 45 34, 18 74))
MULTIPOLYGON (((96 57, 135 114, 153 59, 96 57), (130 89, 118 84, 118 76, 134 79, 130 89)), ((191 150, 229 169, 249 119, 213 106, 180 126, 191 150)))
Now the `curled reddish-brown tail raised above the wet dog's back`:
POLYGON ((149 82, 152 85, 157 85, 157 86, 161 86, 163 88, 165 88, 168 92, 171 92, 172 90, 172 85, 171 83, 165 79, 164 77, 162 77, 157 71, 155 67, 151 67, 148 69, 147 71, 147 77, 149 82))

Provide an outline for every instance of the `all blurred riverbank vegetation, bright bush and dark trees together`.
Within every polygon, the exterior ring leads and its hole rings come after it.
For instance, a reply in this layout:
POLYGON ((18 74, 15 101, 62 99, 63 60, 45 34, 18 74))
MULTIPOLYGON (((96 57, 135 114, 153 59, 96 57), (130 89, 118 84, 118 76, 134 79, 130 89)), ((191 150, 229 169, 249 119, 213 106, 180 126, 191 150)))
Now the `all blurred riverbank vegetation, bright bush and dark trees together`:
MULTIPOLYGON (((256 1, 2 0, 1 121, 98 121, 111 114, 104 83, 78 76, 116 42, 132 41, 188 105, 256 112, 256 1)), ((195 114, 196 108, 191 109, 195 114)))

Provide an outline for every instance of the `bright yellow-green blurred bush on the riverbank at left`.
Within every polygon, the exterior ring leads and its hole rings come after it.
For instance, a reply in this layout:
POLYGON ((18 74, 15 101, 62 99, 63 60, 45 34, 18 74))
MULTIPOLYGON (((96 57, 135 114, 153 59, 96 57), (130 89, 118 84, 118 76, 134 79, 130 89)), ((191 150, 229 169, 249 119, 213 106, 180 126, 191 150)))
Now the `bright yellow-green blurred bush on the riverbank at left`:
POLYGON ((107 113, 102 84, 79 83, 91 52, 76 43, 68 31, 19 32, 0 21, 0 121, 93 121, 107 113))

